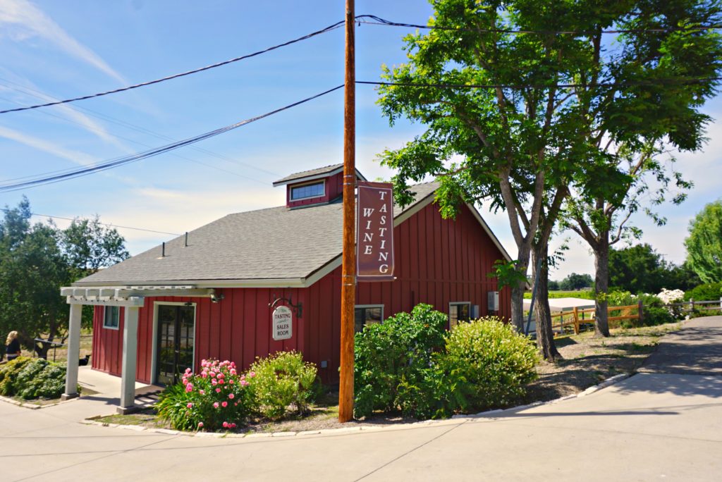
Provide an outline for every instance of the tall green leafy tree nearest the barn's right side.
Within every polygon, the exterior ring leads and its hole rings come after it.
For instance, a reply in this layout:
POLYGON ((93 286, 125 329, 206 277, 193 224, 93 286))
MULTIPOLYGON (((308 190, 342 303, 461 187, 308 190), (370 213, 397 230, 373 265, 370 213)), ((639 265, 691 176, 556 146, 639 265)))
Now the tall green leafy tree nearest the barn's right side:
MULTIPOLYGON (((716 23, 716 2, 431 4, 435 28, 406 37, 409 62, 384 68, 390 84, 380 87, 379 101, 392 124, 406 117, 427 130, 384 152, 383 162, 398 170, 400 203, 409 202, 408 180, 434 175, 442 181, 437 200, 444 216, 455 214, 460 199, 505 209, 521 273, 532 250, 535 259, 547 258, 573 188, 619 198, 617 180, 628 173, 612 147, 636 152, 662 138, 681 148, 699 144, 708 118, 696 108, 713 95, 719 40, 713 31, 678 27, 716 23), (602 30, 611 29, 627 31, 603 40, 602 30), (471 87, 478 85, 490 87, 471 87)), ((545 284, 547 263, 539 266, 545 284)), ((554 358, 544 288, 535 306, 542 315, 537 339, 545 358, 554 358)), ((518 283, 517 326, 522 296, 518 283)))

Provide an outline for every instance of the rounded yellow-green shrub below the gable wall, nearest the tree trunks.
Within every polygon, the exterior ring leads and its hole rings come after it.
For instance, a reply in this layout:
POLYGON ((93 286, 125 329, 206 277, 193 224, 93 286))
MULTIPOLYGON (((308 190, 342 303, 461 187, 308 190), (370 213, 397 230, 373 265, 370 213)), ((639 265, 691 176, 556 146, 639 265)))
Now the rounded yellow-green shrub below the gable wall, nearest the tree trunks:
POLYGON ((539 355, 529 338, 497 317, 459 323, 434 355, 437 396, 443 412, 480 411, 508 406, 536 379, 539 355))

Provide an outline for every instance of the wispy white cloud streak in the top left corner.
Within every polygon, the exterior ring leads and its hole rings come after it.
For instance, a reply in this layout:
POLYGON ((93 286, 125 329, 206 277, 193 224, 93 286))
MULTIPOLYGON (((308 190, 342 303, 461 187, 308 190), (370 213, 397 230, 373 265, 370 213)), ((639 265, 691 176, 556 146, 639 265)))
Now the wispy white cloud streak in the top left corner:
POLYGON ((110 67, 103 58, 72 38, 60 25, 53 22, 53 19, 27 0, 0 1, 0 35, 3 33, 16 41, 34 37, 48 40, 61 51, 90 63, 121 84, 127 84, 126 79, 123 79, 123 76, 110 67))

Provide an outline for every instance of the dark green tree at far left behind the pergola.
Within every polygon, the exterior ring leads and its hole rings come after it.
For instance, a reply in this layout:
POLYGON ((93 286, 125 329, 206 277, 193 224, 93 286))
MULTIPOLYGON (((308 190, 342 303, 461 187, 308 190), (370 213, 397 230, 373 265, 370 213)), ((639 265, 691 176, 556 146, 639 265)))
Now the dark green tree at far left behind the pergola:
POLYGON ((61 286, 69 286, 92 266, 127 257, 127 252, 115 229, 82 230, 78 221, 63 231, 53 222, 31 224, 31 216, 30 203, 23 198, 17 207, 5 209, 0 220, 0 333, 17 330, 26 348, 45 357, 50 346, 34 338, 66 338, 68 305, 61 286), (91 253, 83 264, 79 256, 69 255, 68 247, 75 245, 113 248, 91 253), (103 257, 100 263, 98 256, 103 257))

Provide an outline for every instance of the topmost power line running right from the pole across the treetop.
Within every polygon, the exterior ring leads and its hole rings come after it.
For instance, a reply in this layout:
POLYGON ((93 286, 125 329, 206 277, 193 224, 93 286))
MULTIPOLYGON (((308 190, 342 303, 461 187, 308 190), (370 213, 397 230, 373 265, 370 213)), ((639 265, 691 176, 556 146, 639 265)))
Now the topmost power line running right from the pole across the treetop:
POLYGON ((384 27, 407 27, 424 30, 451 30, 454 32, 477 32, 477 33, 510 33, 510 34, 541 34, 541 35, 597 35, 597 34, 619 34, 619 33, 666 33, 666 32, 696 32, 704 30, 720 30, 722 25, 690 25, 687 27, 659 27, 659 28, 630 28, 618 30, 515 30, 515 29, 484 29, 467 27, 443 27, 439 25, 419 25, 404 22, 391 22, 375 15, 360 15, 359 17, 370 18, 371 20, 357 19, 358 23, 368 25, 383 25, 384 27))

